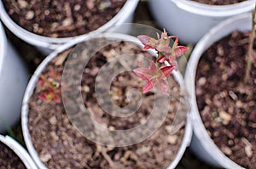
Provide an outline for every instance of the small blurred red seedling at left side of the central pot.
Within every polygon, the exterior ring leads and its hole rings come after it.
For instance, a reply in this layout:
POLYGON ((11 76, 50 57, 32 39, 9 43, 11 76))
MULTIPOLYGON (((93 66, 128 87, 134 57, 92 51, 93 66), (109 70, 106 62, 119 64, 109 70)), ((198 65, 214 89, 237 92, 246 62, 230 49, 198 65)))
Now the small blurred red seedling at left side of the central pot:
POLYGON ((51 69, 47 76, 41 75, 38 81, 42 93, 39 99, 43 99, 46 103, 54 100, 56 103, 61 102, 61 76, 51 69))

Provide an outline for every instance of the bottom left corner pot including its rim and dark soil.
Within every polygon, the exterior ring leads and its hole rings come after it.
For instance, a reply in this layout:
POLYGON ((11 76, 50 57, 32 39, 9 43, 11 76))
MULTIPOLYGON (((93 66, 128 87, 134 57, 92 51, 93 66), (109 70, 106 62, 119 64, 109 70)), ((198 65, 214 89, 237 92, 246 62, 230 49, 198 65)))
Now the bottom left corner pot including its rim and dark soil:
POLYGON ((15 139, 0 135, 0 164, 1 168, 37 168, 24 149, 15 139))

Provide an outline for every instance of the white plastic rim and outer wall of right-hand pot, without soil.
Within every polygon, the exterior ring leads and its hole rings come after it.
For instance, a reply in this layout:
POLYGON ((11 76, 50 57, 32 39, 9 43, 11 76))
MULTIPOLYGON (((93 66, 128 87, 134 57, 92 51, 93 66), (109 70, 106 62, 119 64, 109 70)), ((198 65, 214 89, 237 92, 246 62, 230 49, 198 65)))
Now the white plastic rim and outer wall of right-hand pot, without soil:
POLYGON ((250 31, 251 30, 251 14, 242 14, 229 20, 224 20, 218 24, 211 31, 201 38, 200 42, 195 46, 194 51, 191 54, 187 70, 185 73, 185 83, 190 94, 191 102, 191 117, 193 126, 193 137, 191 142, 191 149, 202 160, 223 168, 242 168, 238 166, 234 161, 224 155, 224 153, 218 149, 216 144, 207 134, 207 130, 201 121, 201 115, 197 108, 195 97, 195 73, 199 59, 201 55, 209 48, 214 42, 229 35, 232 31, 250 31))

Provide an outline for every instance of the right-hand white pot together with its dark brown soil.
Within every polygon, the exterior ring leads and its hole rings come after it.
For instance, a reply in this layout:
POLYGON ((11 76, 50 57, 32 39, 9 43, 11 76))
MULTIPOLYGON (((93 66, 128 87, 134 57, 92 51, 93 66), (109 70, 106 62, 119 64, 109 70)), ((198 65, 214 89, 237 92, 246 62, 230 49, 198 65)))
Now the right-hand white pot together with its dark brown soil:
POLYGON ((224 168, 256 165, 254 54, 244 81, 251 25, 251 15, 243 14, 212 28, 197 43, 185 74, 195 131, 191 148, 224 168))

